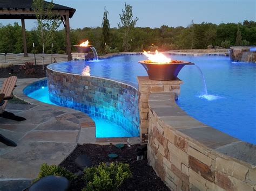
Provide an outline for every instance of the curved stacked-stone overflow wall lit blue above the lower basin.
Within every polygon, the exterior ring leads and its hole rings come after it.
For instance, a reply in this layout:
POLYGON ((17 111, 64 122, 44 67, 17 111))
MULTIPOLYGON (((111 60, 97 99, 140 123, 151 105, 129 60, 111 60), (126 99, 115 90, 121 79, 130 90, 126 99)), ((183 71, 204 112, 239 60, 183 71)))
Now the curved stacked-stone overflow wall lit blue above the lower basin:
POLYGON ((139 136, 138 91, 124 83, 47 69, 50 100, 107 119, 139 136))

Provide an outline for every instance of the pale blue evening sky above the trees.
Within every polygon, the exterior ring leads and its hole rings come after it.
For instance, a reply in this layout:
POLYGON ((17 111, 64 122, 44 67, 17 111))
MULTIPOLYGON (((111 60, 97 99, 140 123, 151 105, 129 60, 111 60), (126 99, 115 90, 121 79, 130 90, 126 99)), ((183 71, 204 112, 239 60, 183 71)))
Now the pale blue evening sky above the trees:
MULTIPOLYGON (((132 5, 133 16, 139 18, 136 26, 140 27, 186 27, 192 20, 215 24, 256 21, 256 0, 53 0, 76 9, 70 19, 72 29, 101 26, 105 6, 110 27, 117 27, 125 2, 132 5)), ((21 24, 20 20, 0 20, 4 25, 14 22, 21 24)), ((25 20, 25 25, 31 30, 37 26, 36 20, 25 20)))

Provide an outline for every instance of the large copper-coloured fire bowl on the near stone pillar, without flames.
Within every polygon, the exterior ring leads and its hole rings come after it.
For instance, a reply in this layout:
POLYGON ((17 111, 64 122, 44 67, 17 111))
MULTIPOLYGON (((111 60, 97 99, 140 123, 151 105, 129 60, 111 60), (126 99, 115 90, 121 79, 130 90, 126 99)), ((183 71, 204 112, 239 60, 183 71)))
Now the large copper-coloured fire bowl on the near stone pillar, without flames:
MULTIPOLYGON (((175 61, 174 61, 175 62, 175 61)), ((178 61, 179 63, 154 63, 142 60, 139 63, 146 69, 151 80, 175 80, 185 65, 194 65, 192 62, 178 61)))

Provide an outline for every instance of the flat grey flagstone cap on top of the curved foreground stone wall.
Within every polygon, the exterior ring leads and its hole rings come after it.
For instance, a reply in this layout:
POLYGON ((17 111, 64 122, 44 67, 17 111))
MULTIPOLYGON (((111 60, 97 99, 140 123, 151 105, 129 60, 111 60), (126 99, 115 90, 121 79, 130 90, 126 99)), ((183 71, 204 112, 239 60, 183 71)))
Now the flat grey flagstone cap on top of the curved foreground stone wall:
POLYGON ((169 126, 211 153, 256 169, 256 145, 242 142, 187 115, 171 98, 173 94, 151 93, 149 97, 149 108, 160 125, 169 126))

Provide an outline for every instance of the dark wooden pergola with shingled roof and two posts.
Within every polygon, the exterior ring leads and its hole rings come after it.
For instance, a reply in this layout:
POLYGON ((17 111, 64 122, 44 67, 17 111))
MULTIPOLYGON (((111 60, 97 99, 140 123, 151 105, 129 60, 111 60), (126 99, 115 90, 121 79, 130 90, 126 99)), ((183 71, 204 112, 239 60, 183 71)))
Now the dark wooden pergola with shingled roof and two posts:
MULTIPOLYGON (((26 49, 25 19, 36 19, 35 11, 32 9, 32 2, 33 0, 0 1, 0 19, 21 19, 24 57, 28 57, 28 51, 26 49)), ((52 13, 60 16, 65 26, 66 53, 68 54, 68 60, 72 60, 69 19, 73 17, 76 9, 55 3, 53 4, 52 13)))

